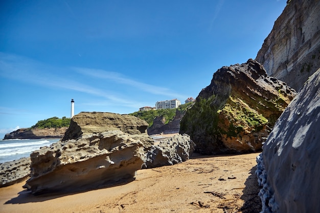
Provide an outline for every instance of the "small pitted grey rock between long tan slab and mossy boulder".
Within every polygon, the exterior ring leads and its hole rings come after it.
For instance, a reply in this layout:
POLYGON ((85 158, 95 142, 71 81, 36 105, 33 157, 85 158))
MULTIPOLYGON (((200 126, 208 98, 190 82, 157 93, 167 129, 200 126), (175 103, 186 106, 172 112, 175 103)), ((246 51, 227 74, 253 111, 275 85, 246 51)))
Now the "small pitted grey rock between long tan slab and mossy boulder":
POLYGON ((142 168, 149 169, 184 162, 189 160, 194 149, 195 144, 189 135, 174 135, 151 147, 142 168))

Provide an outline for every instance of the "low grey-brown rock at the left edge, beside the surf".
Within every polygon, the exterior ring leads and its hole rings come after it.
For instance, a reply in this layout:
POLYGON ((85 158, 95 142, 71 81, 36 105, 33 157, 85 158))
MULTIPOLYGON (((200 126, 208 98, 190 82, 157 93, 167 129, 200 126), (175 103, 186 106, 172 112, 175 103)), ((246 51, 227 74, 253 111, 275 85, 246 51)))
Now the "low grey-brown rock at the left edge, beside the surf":
POLYGON ((26 180, 30 175, 30 157, 0 163, 0 187, 26 180))

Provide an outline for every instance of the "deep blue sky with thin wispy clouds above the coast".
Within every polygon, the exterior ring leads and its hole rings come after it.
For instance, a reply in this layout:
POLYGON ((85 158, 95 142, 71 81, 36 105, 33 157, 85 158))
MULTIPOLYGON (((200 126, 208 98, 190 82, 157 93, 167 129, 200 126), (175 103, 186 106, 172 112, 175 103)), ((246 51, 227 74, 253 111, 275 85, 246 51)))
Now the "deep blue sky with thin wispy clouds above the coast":
POLYGON ((196 98, 255 58, 286 0, 1 1, 0 137, 52 116, 196 98))

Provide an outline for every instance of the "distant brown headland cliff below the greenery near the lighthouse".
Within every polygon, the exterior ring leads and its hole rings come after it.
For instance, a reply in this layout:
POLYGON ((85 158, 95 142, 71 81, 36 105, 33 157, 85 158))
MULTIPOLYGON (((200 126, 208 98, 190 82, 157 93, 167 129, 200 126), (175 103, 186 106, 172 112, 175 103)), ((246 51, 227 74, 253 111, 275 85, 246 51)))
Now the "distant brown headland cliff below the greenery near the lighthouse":
POLYGON ((30 129, 21 128, 5 135, 4 139, 62 138, 67 127, 30 129))

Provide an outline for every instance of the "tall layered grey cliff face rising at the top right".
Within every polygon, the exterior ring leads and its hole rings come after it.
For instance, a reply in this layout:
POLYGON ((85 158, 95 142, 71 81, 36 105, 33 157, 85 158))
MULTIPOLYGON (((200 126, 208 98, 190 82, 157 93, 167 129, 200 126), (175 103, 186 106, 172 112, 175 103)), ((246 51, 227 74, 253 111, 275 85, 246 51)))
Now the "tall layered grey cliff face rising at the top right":
POLYGON ((320 67, 320 2, 288 1, 256 60, 296 90, 320 67))

